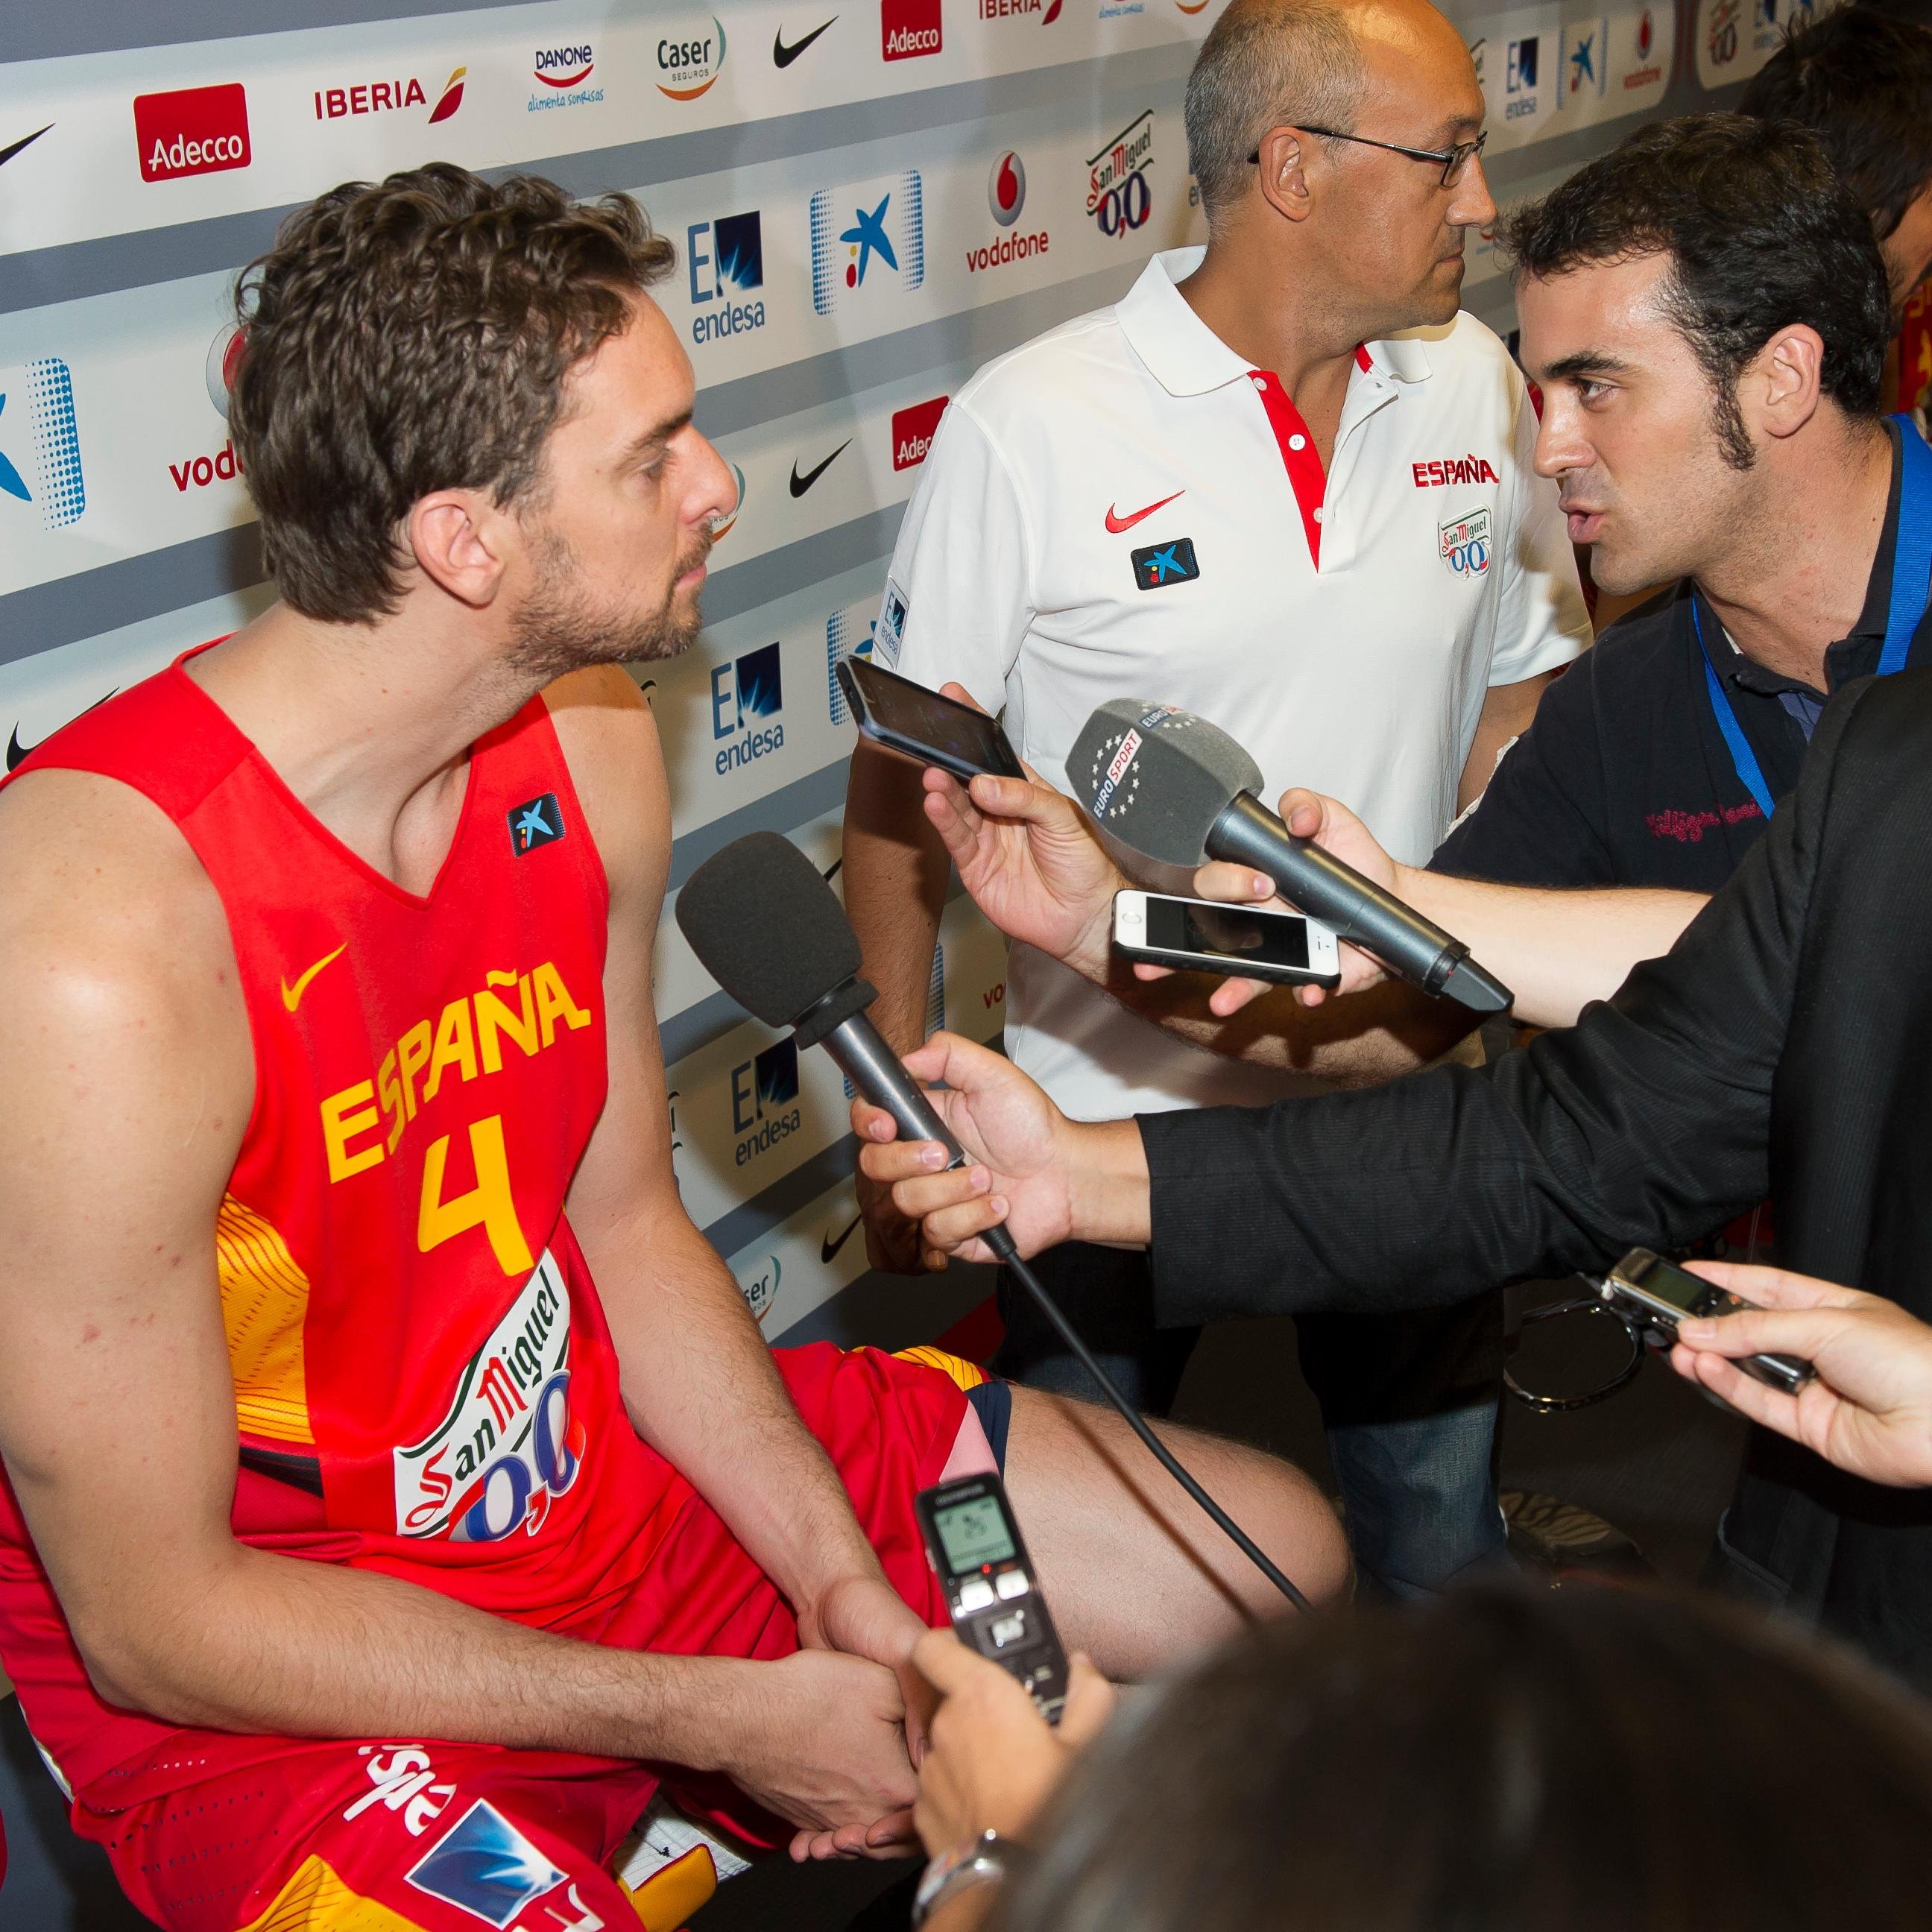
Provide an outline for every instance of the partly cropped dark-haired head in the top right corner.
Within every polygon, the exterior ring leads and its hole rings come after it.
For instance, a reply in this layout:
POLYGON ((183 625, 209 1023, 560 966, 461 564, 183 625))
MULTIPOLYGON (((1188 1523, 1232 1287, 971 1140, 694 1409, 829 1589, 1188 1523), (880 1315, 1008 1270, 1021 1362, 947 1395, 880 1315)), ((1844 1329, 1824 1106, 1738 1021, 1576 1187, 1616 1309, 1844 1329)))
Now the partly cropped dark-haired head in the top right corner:
POLYGON ((1801 21, 1737 106, 1818 135, 1903 307, 1932 270, 1932 33, 1862 6, 1801 21))

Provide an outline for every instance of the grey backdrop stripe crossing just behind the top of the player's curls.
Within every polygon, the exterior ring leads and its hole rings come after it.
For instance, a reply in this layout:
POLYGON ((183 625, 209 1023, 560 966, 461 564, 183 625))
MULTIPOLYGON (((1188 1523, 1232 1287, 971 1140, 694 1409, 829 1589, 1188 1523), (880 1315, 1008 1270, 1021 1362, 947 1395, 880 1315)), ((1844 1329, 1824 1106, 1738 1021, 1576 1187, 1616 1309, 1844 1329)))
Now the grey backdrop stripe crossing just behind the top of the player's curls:
MULTIPOLYGON (((690 133, 587 149, 582 155, 547 155, 479 172, 493 182, 500 182, 506 174, 533 172, 547 176, 574 195, 601 195, 609 187, 682 182, 724 168, 748 168, 763 160, 790 160, 796 155, 850 147, 854 118, 864 120, 864 139, 873 141, 898 133, 929 133, 941 126, 966 126, 1016 108, 1059 106, 1065 110, 1070 106, 1070 97, 1082 91, 1099 97, 1103 91, 1115 93, 1177 79, 1186 71, 1192 56, 1192 43, 1177 43, 1165 48, 1142 48, 1134 54, 1076 60, 1065 68, 1034 68, 1028 73, 1009 73, 991 81, 954 81, 951 87, 933 87, 918 95, 889 95, 883 100, 779 114, 736 128, 696 128, 690 133)), ((643 199, 649 207, 649 189, 643 189, 643 199)), ((0 276, 0 315, 15 309, 39 309, 50 301, 75 301, 83 296, 104 296, 122 288, 147 288, 153 282, 178 282, 191 274, 238 269, 269 247, 276 228, 298 207, 307 207, 307 203, 290 201, 278 209, 245 209, 238 214, 216 214, 205 222, 176 222, 172 228, 95 236, 87 242, 62 242, 54 247, 0 257, 6 267, 6 274, 0 276)))

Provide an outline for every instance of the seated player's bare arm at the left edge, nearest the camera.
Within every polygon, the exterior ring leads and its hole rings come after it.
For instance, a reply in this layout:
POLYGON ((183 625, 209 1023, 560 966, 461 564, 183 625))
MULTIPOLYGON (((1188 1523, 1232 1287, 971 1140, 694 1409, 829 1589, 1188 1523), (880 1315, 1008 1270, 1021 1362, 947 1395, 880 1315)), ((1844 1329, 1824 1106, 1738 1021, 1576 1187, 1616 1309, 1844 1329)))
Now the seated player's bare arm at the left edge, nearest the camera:
POLYGON ((0 796, 0 1459, 100 1694, 728 1768, 796 1824, 904 1803, 883 1671, 605 1650, 234 1538, 214 1221, 255 1074, 220 902, 153 806, 83 773, 0 796))

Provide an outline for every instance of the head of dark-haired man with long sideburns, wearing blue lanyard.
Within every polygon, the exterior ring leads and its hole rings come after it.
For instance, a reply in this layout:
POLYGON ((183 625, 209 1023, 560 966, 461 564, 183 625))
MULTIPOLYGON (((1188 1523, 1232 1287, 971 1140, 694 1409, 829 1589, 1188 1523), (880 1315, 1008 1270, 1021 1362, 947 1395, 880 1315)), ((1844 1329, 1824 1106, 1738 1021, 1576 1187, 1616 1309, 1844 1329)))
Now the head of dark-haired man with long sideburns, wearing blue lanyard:
POLYGON ((1816 135, 1743 114, 1633 133, 1501 228, 1536 468, 1607 591, 1776 545, 1882 437, 1891 299, 1816 135))

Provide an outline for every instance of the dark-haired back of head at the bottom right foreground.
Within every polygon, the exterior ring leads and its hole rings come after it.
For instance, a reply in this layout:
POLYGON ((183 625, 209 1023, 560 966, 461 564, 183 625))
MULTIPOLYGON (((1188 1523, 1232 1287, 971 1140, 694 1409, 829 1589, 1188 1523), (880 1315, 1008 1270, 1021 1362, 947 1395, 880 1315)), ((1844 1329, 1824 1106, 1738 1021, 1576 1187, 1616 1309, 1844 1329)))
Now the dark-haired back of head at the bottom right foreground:
POLYGON ((1078 1762, 999 1932, 1920 1932, 1932 1719, 1710 1598, 1254 1629, 1078 1762))

